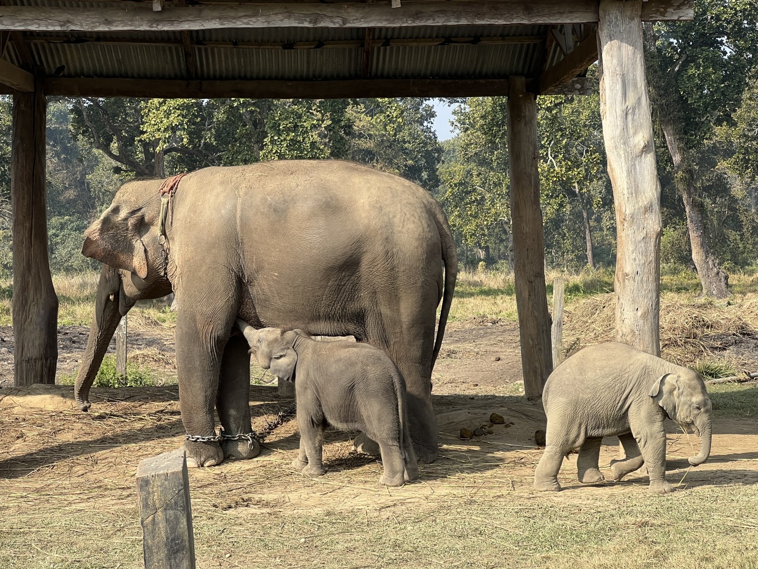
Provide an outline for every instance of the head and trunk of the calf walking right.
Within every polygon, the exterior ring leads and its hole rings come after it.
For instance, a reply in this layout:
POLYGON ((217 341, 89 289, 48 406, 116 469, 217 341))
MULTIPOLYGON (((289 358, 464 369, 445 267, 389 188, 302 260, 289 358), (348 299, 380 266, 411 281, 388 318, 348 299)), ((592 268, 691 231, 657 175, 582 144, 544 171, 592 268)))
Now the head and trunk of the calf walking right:
POLYGON ((700 375, 691 369, 682 373, 665 373, 653 382, 650 397, 666 411, 670 419, 684 429, 693 427, 702 437, 700 454, 689 457, 693 466, 708 460, 711 447, 711 402, 700 375))

